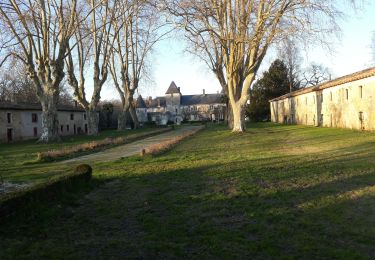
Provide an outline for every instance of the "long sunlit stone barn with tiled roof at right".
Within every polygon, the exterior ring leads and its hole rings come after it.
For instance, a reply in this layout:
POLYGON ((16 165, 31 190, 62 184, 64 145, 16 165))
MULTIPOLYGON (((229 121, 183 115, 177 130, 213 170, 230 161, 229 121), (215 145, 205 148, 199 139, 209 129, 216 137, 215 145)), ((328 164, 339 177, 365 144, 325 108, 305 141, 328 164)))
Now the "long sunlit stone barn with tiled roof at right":
POLYGON ((271 121, 375 130, 375 67, 270 100, 271 121))

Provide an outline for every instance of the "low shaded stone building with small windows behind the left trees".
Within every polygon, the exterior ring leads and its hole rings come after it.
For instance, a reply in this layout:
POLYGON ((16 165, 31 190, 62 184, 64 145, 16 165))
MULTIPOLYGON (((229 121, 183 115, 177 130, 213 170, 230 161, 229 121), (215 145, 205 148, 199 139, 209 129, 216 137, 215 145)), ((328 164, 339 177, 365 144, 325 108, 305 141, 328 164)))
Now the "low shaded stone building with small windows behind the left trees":
MULTIPOLYGON (((0 142, 36 139, 41 135, 40 104, 0 102, 0 142)), ((87 133, 87 118, 76 106, 58 106, 61 136, 87 133)))

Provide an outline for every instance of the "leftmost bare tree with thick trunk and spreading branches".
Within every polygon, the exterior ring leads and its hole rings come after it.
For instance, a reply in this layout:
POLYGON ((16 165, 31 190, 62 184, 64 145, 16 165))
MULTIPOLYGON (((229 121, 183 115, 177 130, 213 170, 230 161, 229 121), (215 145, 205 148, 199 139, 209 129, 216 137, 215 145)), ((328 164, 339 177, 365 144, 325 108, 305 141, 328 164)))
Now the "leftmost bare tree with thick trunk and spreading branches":
POLYGON ((42 105, 40 141, 59 139, 57 103, 64 78, 68 43, 81 12, 78 0, 9 0, 0 3, 1 46, 4 61, 22 61, 42 105))

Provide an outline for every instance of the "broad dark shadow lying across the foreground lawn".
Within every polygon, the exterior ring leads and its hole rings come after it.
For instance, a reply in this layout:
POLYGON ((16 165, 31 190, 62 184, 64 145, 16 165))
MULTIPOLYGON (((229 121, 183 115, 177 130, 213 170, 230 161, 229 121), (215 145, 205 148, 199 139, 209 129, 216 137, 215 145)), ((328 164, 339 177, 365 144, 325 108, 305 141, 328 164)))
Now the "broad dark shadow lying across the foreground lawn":
POLYGON ((277 174, 268 169, 239 170, 247 166, 116 176, 75 207, 60 204, 22 230, 8 222, 0 231, 3 256, 373 256, 374 196, 366 192, 373 173, 296 187, 268 182, 277 174))

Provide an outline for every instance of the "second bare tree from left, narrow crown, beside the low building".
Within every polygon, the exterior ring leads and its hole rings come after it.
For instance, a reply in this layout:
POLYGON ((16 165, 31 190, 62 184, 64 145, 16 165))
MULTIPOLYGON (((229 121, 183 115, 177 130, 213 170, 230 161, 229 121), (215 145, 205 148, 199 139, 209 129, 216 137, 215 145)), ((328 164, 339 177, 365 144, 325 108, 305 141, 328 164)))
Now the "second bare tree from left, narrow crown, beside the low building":
MULTIPOLYGON (((114 32, 112 21, 115 19, 116 0, 90 0, 88 9, 93 10, 85 22, 78 25, 74 34, 74 48, 66 59, 68 83, 73 88, 75 100, 85 109, 88 119, 88 134, 99 133, 99 115, 97 111, 100 92, 108 78, 108 64, 112 51, 114 32), (91 100, 86 98, 85 69, 90 62, 93 71, 93 93, 91 100), (76 73, 78 75, 76 75, 76 73)), ((80 14, 76 14, 77 19, 80 14)))

